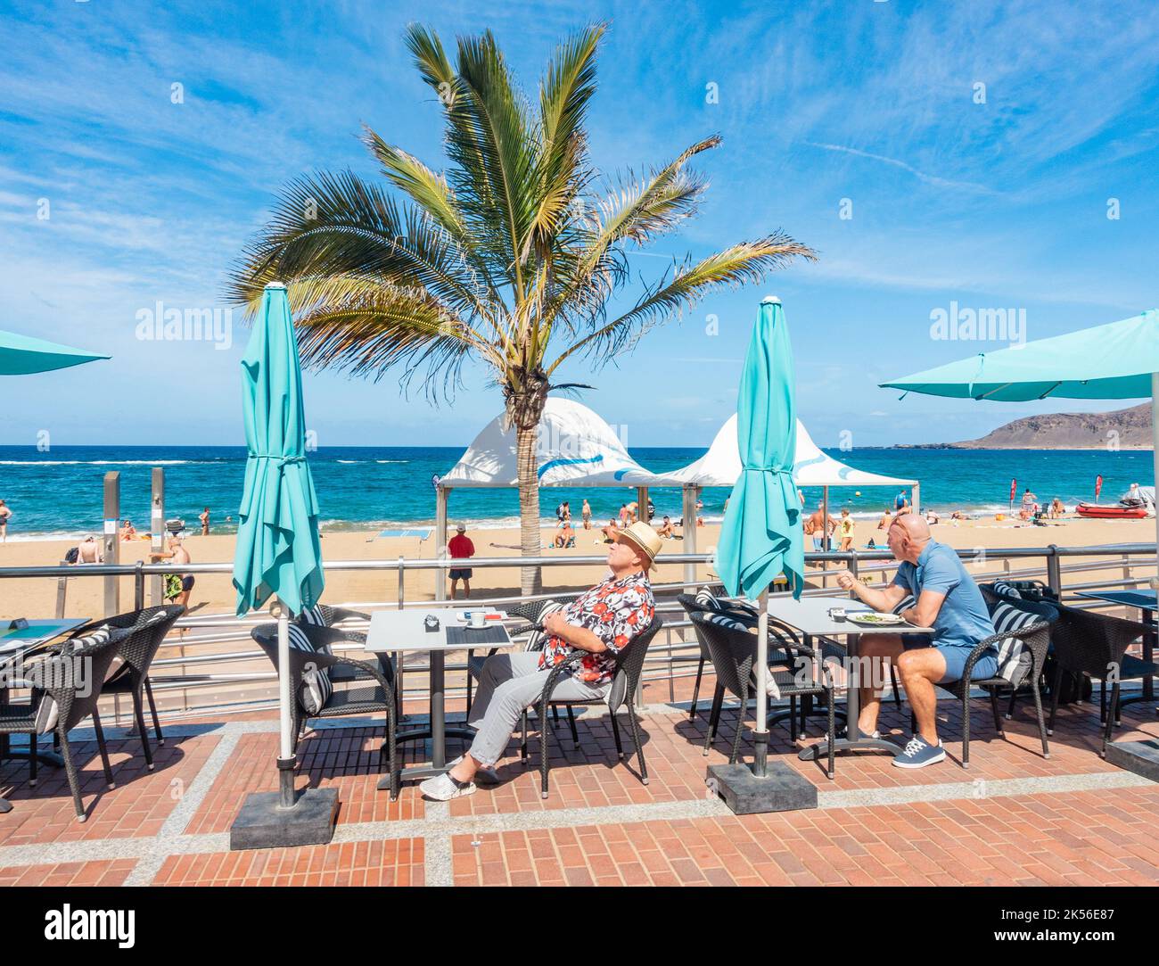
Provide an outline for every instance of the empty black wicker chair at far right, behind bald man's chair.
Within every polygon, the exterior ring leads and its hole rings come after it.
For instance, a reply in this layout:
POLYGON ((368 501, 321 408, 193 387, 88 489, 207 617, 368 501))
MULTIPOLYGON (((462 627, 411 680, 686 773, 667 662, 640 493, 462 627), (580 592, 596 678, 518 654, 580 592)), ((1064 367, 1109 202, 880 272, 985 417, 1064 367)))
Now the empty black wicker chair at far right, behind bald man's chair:
POLYGON ((1106 725, 1102 749, 1107 756, 1107 742, 1115 725, 1122 724, 1120 709, 1120 682, 1137 681, 1149 674, 1159 674, 1159 666, 1128 654, 1127 648, 1147 633, 1147 626, 1137 620, 1124 620, 1106 613, 1078 610, 1066 604, 1058 605, 1059 620, 1054 635, 1055 680, 1050 702, 1050 724, 1047 733, 1054 734, 1055 716, 1058 711, 1058 691, 1063 670, 1078 671, 1101 682, 1099 720, 1106 725), (1110 711, 1107 709, 1107 682, 1111 682, 1110 711))

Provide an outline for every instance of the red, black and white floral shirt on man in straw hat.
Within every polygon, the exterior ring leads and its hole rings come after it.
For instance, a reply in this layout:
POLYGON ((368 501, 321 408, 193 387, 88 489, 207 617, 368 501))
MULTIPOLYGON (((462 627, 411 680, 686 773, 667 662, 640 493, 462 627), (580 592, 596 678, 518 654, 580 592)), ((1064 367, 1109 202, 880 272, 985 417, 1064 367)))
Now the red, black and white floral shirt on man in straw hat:
MULTIPOLYGON (((607 646, 607 651, 584 656, 573 671, 576 680, 593 685, 610 682, 617 652, 651 624, 655 612, 651 584, 643 572, 619 580, 608 576, 564 607, 560 613, 568 624, 586 627, 607 646)), ((577 649, 561 638, 549 637, 539 667, 557 664, 577 649)))

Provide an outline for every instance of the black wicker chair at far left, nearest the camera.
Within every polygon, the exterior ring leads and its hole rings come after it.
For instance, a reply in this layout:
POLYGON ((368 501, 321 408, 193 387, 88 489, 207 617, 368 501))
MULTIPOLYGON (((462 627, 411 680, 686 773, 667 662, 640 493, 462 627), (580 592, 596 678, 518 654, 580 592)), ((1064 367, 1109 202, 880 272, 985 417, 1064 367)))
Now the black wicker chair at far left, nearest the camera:
POLYGON ((72 637, 64 644, 24 658, 23 676, 31 683, 28 703, 8 704, 0 707, 0 734, 27 734, 29 739, 29 785, 36 785, 36 740, 41 734, 52 733, 53 743, 64 758, 68 789, 76 809, 76 821, 85 821, 85 802, 80 793, 80 777, 72 758, 68 732, 92 716, 96 745, 104 769, 104 780, 111 789, 112 769, 109 751, 104 745, 104 729, 97 713, 101 685, 109 667, 117 656, 117 648, 132 633, 127 627, 112 627, 107 633, 90 633, 72 637), (51 720, 52 703, 56 703, 56 722, 51 720))

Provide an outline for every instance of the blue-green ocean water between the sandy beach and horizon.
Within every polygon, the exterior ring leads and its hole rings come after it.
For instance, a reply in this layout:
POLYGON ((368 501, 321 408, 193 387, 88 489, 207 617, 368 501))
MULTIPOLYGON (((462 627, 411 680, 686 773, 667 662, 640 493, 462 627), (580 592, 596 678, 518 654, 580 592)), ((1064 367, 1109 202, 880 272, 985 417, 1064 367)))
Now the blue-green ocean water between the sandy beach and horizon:
MULTIPOLYGON (((704 456, 704 446, 633 446, 629 452, 656 472, 677 470, 704 456)), ((445 474, 462 456, 457 446, 321 446, 309 453, 314 487, 327 530, 428 526, 435 521, 432 478, 445 474)), ((892 477, 921 481, 921 503, 939 513, 954 509, 996 513, 1008 507, 1011 480, 1019 495, 1029 486, 1041 501, 1059 497, 1069 507, 1094 500, 1102 475, 1101 500, 1114 502, 1132 482, 1153 484, 1149 450, 916 450, 825 449, 837 459, 892 477)), ((0 499, 13 510, 8 539, 66 539, 99 533, 102 526, 102 480, 121 473, 121 517, 148 529, 151 470, 166 471, 166 516, 197 529, 203 507, 211 513, 211 532, 236 529, 238 502, 246 465, 245 446, 0 446, 0 499)), ((701 495, 708 521, 723 514, 728 488, 701 495)), ((809 506, 819 503, 819 487, 804 488, 809 506)), ((830 506, 848 507, 854 516, 877 516, 894 500, 887 487, 833 487, 830 506)), ((658 516, 680 515, 677 488, 654 488, 658 516)), ((586 496, 592 518, 606 522, 622 503, 635 499, 632 487, 547 487, 540 495, 545 524, 555 506, 569 500, 578 520, 586 496)), ((457 489, 450 518, 476 529, 518 525, 515 489, 457 489)))

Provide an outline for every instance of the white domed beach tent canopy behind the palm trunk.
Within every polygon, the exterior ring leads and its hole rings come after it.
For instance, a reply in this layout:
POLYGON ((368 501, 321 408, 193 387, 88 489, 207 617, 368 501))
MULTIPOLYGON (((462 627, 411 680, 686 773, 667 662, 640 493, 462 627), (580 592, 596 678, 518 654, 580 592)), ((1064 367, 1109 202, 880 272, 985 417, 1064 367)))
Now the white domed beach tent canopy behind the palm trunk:
MULTIPOLYGON (((538 434, 535 462, 540 486, 641 487, 683 482, 644 470, 628 456, 611 426, 573 399, 548 397, 538 434)), ((439 488, 446 489, 518 485, 515 427, 506 424, 503 414, 487 424, 439 480, 439 488)))

